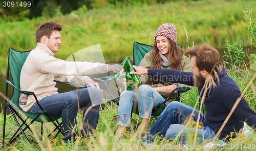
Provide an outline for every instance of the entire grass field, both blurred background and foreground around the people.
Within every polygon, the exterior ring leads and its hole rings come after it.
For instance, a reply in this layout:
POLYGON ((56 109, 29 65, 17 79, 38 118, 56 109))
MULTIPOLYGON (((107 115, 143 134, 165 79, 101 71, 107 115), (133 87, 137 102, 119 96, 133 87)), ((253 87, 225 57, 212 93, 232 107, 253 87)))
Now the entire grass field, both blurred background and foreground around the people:
MULTIPOLYGON (((30 50, 35 47, 34 32, 36 28, 46 21, 55 21, 63 26, 62 46, 56 54, 57 57, 66 59, 70 54, 91 45, 100 44, 106 62, 120 62, 126 55, 132 58, 133 41, 152 44, 155 30, 165 22, 173 23, 178 31, 178 43, 187 48, 184 27, 188 33, 189 46, 193 41, 195 44, 208 43, 217 48, 225 47, 225 40, 237 41, 238 36, 244 41, 245 46, 250 45, 247 39, 248 33, 244 27, 247 25, 243 19, 243 10, 246 7, 256 6, 254 1, 195 1, 158 4, 154 6, 125 7, 120 9, 98 9, 86 13, 75 11, 75 15, 58 16, 54 18, 36 18, 25 21, 14 21, 5 23, 0 20, 0 69, 2 74, 6 72, 7 50, 12 47, 17 50, 30 50), (103 15, 104 14, 104 15, 103 15), (3 34, 2 34, 3 33, 3 34), (115 56, 115 57, 114 57, 115 56)), ((253 16, 255 17, 255 16, 253 16)), ((254 31, 254 37, 255 31, 254 31)), ((255 42, 255 41, 254 41, 255 42)), ((255 43, 254 43, 255 44, 255 43)), ((253 48, 255 48, 256 44, 253 48)), ((245 50, 246 51, 246 50, 245 50)), ((227 57, 233 57, 232 55, 227 57)), ((254 56, 255 57, 255 56, 254 56)), ((229 58, 232 60, 238 57, 229 58)), ((246 66, 229 66, 227 74, 238 84, 244 98, 250 107, 256 111, 256 80, 255 60, 246 66), (254 63, 253 63, 254 61, 254 63), (254 65, 253 65, 254 64, 254 65), (248 66, 247 66, 248 65, 248 66)), ((189 106, 196 106, 198 90, 191 88, 182 94, 181 102, 189 106)), ((165 140, 157 137, 150 148, 144 148, 140 144, 141 132, 127 131, 124 139, 116 137, 116 118, 118 106, 115 103, 106 104, 104 110, 100 110, 99 123, 90 140, 77 137, 75 143, 61 143, 59 135, 52 144, 46 138, 47 132, 52 130, 51 123, 46 124, 43 138, 40 138, 37 123, 32 127, 36 131, 36 138, 29 133, 29 145, 24 137, 20 137, 11 146, 1 148, 2 150, 255 150, 256 133, 248 136, 238 133, 236 139, 230 139, 225 146, 214 146, 204 148, 208 141, 201 144, 194 144, 194 134, 191 134, 187 141, 187 147, 180 147, 177 141, 165 140), (178 149, 177 149, 178 147, 178 149), (194 148, 189 148, 194 147, 194 148)), ((135 119, 137 115, 133 115, 135 119)), ((3 113, 0 113, 0 123, 3 123, 3 113)), ((78 113, 77 121, 80 128, 82 113, 78 113)), ((10 138, 17 126, 11 115, 7 116, 6 139, 10 138)), ((150 126, 155 119, 152 118, 150 126)), ((0 124, 0 142, 2 143, 3 124, 0 124)))

